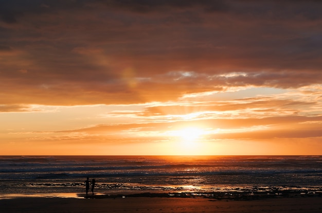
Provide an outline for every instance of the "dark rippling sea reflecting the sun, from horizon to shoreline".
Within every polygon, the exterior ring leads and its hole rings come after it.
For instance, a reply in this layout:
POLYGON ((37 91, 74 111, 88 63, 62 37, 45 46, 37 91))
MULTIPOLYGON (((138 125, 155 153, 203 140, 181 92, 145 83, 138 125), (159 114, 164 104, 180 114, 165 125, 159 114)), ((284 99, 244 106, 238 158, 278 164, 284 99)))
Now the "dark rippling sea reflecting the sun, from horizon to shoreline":
MULTIPOLYGON (((322 156, 0 156, 0 193, 322 192, 322 156)), ((1 196, 0 196, 1 197, 1 196)))

